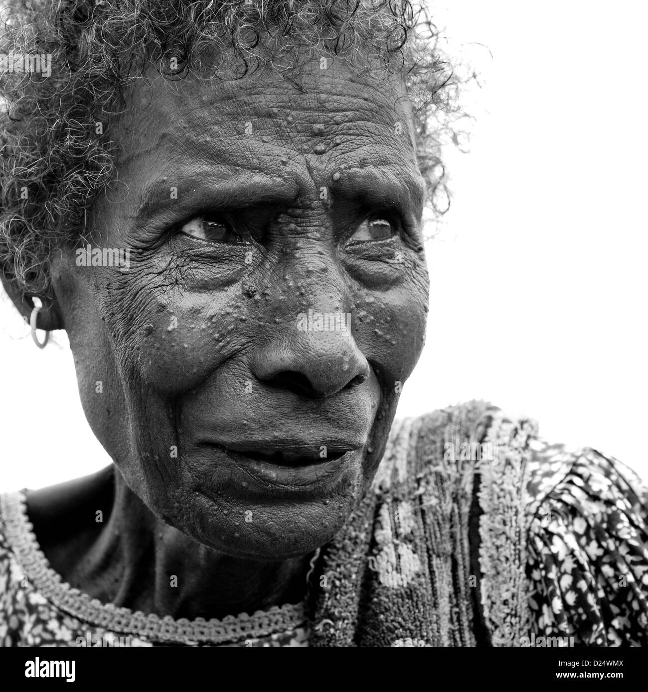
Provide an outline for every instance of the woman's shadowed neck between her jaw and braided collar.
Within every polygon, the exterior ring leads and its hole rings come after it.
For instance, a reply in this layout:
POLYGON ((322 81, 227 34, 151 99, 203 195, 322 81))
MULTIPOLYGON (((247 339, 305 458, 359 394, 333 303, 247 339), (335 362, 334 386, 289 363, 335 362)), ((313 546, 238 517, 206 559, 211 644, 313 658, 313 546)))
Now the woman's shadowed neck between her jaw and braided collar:
POLYGON ((51 567, 103 603, 222 619, 306 595, 308 556, 254 561, 195 543, 157 518, 114 467, 29 493, 28 513, 51 567))

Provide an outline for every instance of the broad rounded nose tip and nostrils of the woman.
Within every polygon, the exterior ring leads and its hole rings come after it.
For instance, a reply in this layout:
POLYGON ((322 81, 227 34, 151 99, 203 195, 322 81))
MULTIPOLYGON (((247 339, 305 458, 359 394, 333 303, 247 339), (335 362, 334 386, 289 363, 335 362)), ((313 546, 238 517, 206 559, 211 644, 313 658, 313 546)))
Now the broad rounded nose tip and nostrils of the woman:
POLYGON ((313 399, 332 397, 367 380, 369 363, 358 349, 350 325, 315 331, 304 316, 301 326, 304 329, 286 326, 274 339, 256 347, 252 357, 256 378, 313 399))

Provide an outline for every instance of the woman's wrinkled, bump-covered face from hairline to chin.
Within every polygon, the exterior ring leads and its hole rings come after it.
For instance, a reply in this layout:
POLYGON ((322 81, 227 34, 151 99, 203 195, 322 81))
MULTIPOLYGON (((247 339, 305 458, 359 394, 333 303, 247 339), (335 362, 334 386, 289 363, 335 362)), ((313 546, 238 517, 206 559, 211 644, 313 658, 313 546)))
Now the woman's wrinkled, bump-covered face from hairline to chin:
POLYGON ((344 525, 423 346, 407 106, 319 68, 138 84, 88 237, 130 268, 53 267, 94 432, 157 516, 234 556, 344 525))

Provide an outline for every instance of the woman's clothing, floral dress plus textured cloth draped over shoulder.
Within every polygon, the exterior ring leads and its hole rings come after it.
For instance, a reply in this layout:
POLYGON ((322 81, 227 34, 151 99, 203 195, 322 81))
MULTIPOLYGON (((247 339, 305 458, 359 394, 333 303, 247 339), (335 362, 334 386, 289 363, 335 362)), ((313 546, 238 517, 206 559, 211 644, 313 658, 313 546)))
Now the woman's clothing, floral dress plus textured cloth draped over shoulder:
POLYGON ((308 602, 189 621, 71 588, 8 493, 0 645, 647 646, 647 516, 620 462, 471 402, 394 424, 371 493, 317 554, 308 602), (475 440, 497 458, 448 455, 475 440))

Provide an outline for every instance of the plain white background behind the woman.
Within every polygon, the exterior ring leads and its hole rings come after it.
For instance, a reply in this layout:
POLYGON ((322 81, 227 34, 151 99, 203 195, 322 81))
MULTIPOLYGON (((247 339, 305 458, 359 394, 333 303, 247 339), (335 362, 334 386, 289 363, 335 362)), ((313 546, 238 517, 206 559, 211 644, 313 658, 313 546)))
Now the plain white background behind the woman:
MULTIPOLYGON (((647 11, 433 6, 487 83, 471 154, 448 153, 453 207, 427 247, 428 341, 399 415, 487 399, 648 477, 647 11)), ((83 416, 64 333, 39 351, 16 315, 0 301, 0 491, 110 462, 83 416)))

